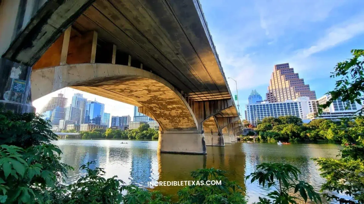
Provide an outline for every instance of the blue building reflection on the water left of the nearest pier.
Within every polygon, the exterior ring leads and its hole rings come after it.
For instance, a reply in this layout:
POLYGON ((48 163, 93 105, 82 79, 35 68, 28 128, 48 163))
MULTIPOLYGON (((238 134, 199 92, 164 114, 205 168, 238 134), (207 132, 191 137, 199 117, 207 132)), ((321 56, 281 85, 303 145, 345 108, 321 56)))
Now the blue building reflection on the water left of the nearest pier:
POLYGON ((152 155, 146 148, 137 148, 133 150, 131 160, 130 177, 133 179, 132 184, 147 187, 151 181, 152 174, 152 155))

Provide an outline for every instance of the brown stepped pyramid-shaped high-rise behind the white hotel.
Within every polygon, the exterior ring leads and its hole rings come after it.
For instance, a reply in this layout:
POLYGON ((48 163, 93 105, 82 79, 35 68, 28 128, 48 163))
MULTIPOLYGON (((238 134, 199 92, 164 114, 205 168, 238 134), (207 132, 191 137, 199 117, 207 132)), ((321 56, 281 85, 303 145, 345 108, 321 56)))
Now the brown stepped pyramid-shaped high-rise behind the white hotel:
POLYGON ((294 73, 288 63, 274 65, 266 94, 267 101, 284 102, 304 96, 316 99, 315 91, 310 90, 310 86, 298 77, 298 73, 294 73))

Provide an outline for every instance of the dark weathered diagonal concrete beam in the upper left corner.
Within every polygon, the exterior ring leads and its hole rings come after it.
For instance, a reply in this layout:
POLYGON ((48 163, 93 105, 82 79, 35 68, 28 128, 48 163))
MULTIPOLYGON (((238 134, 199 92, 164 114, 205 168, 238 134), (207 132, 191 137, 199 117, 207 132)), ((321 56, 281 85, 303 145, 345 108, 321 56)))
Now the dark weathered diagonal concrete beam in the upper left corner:
POLYGON ((94 0, 48 0, 15 37, 4 58, 32 66, 94 0))

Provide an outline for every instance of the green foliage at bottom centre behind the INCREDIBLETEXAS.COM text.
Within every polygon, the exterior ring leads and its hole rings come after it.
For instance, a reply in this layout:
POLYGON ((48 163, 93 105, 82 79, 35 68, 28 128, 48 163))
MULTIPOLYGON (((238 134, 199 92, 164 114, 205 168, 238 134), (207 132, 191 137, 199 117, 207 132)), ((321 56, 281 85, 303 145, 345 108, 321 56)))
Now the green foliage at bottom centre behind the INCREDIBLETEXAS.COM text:
POLYGON ((195 181, 221 180, 221 185, 191 185, 178 191, 181 204, 241 204, 246 203, 242 188, 234 181, 229 181, 225 171, 214 168, 193 171, 195 181))

